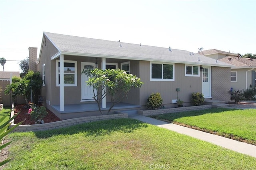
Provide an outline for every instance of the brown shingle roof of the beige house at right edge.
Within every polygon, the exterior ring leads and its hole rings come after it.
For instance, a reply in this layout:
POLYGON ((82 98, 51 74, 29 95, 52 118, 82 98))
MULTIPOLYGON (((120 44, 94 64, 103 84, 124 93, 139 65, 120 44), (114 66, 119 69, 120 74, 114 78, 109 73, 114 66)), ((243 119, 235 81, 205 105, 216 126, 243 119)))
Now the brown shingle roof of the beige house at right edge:
POLYGON ((219 59, 218 61, 223 61, 225 63, 229 63, 237 67, 256 67, 256 59, 252 58, 243 58, 243 57, 234 57, 234 56, 228 56, 222 59, 219 59))

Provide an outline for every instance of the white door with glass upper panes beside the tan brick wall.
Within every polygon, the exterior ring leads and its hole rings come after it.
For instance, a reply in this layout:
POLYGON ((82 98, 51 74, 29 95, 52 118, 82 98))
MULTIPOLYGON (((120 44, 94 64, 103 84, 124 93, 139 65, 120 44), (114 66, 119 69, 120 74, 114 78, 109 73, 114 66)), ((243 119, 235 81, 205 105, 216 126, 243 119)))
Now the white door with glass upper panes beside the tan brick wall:
POLYGON ((211 67, 203 65, 203 73, 202 73, 202 81, 203 81, 203 95, 204 98, 211 98, 211 67))

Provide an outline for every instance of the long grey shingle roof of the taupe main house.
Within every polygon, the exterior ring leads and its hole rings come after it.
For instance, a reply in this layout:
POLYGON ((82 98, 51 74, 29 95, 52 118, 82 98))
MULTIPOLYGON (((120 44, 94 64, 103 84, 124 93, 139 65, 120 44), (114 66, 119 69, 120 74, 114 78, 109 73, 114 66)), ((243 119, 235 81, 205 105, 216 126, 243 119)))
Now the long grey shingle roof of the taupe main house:
POLYGON ((124 42, 114 42, 108 40, 98 40, 92 38, 83 38, 76 36, 67 36, 44 32, 56 48, 65 54, 70 55, 93 55, 108 58, 134 59, 144 61, 162 61, 175 63, 191 63, 198 65, 214 65, 221 67, 230 67, 229 64, 215 59, 205 57, 198 53, 194 55, 189 51, 172 49, 164 47, 154 47, 149 45, 132 44, 124 42), (122 45, 122 47, 120 47, 122 45), (200 57, 200 61, 199 58, 200 57))

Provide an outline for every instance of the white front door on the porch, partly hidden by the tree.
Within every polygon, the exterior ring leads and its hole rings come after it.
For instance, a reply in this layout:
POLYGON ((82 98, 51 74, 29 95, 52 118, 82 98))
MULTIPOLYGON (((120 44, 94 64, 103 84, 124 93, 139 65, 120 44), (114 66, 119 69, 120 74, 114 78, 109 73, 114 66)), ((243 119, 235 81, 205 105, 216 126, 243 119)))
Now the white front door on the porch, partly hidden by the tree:
MULTIPOLYGON (((81 62, 81 71, 83 69, 94 69, 94 63, 86 63, 81 62)), ((88 86, 86 81, 88 81, 89 77, 85 75, 84 73, 81 74, 81 98, 82 101, 94 101, 92 97, 94 97, 93 94, 93 88, 88 86)))

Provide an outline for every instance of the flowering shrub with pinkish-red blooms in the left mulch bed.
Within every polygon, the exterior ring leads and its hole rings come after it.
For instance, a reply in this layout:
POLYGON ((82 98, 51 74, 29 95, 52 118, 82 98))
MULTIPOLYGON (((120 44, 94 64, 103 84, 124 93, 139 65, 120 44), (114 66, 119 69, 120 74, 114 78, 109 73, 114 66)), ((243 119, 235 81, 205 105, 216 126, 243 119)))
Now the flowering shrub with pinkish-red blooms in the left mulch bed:
POLYGON ((45 106, 38 107, 34 103, 30 103, 28 113, 31 115, 31 119, 35 120, 37 124, 42 123, 42 119, 48 114, 45 106))

